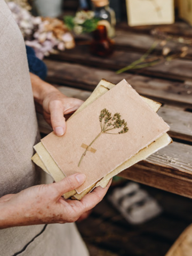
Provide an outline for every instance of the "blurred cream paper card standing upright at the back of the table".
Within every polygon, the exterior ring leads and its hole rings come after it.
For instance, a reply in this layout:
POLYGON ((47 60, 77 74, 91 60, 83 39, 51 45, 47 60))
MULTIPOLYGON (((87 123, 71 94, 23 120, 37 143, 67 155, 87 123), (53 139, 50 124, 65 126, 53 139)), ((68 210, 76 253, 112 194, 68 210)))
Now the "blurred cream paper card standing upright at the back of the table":
POLYGON ((174 0, 126 0, 130 26, 174 23, 174 0))

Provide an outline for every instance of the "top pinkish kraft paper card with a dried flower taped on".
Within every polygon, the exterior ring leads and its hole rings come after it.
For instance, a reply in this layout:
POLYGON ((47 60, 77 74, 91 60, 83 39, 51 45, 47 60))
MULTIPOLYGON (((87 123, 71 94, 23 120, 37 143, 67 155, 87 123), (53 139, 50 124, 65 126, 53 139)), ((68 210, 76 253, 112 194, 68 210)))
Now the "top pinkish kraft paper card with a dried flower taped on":
POLYGON ((76 190, 79 194, 168 130, 123 80, 71 118, 63 137, 51 133, 42 143, 66 176, 85 173, 85 183, 76 190))

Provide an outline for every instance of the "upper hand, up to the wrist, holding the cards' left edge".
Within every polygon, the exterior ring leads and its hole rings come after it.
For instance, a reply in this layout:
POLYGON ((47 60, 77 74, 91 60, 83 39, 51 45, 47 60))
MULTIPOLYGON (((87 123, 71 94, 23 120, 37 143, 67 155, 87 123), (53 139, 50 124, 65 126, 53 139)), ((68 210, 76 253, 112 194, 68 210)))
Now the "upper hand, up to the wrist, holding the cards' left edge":
POLYGON ((55 134, 62 136, 66 132, 66 121, 63 115, 74 113, 83 101, 68 98, 59 90, 46 94, 43 100, 43 116, 55 134))

